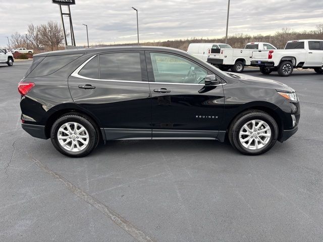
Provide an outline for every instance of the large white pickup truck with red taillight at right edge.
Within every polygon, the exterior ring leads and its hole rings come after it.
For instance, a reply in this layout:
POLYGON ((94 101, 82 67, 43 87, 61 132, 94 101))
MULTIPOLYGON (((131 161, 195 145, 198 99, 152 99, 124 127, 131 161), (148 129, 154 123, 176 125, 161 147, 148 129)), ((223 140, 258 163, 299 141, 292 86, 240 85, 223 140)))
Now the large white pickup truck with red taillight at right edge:
POLYGON ((288 77, 294 68, 314 69, 322 74, 323 40, 291 40, 285 49, 258 50, 252 52, 251 66, 259 67, 262 74, 277 71, 282 77, 288 77))

